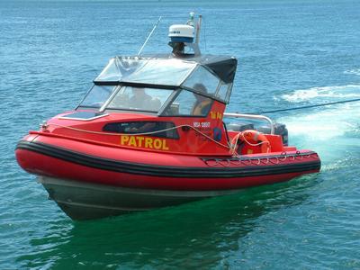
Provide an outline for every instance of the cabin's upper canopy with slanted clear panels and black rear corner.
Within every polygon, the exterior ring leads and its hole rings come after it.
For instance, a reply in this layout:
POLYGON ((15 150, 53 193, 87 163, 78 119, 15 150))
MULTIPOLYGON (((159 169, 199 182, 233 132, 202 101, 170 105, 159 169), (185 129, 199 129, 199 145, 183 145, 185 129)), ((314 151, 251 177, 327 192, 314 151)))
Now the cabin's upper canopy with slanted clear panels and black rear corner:
POLYGON ((181 87, 229 103, 236 68, 236 58, 212 55, 115 57, 94 83, 181 87))

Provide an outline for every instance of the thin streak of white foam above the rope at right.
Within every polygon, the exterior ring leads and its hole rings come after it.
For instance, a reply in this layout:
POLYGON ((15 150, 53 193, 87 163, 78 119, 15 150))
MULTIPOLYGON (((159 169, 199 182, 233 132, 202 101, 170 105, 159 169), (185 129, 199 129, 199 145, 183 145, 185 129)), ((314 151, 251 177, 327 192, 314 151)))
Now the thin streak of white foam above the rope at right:
POLYGON ((290 103, 301 103, 305 101, 323 100, 338 101, 338 99, 360 98, 360 85, 334 85, 324 87, 311 87, 299 89, 293 94, 283 94, 284 100, 290 103))

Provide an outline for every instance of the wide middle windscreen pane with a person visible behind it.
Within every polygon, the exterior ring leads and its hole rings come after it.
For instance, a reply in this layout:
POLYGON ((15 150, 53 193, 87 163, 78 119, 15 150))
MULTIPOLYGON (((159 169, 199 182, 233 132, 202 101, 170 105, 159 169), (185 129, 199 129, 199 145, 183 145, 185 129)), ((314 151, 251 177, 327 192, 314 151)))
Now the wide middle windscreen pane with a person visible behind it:
POLYGON ((123 86, 106 109, 158 112, 174 90, 123 86))

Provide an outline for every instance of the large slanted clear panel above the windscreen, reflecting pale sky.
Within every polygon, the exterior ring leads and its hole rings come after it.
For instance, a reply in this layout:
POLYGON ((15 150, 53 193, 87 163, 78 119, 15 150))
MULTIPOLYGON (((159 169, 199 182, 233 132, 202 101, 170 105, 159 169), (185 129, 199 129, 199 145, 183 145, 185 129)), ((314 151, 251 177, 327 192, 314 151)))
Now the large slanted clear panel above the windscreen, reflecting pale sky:
POLYGON ((178 86, 196 65, 174 58, 112 58, 94 81, 178 86))

